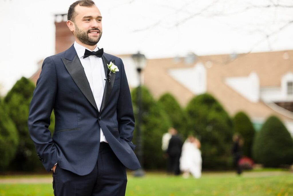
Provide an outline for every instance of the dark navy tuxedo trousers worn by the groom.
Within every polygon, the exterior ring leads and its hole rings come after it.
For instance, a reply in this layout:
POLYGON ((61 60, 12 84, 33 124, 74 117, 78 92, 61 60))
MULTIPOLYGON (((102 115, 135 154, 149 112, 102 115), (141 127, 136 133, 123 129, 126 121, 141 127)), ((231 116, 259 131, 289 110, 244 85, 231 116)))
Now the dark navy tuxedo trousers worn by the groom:
POLYGON ((126 184, 126 167, 108 143, 100 143, 97 164, 88 175, 77 175, 58 164, 53 173, 55 196, 124 196, 126 184))

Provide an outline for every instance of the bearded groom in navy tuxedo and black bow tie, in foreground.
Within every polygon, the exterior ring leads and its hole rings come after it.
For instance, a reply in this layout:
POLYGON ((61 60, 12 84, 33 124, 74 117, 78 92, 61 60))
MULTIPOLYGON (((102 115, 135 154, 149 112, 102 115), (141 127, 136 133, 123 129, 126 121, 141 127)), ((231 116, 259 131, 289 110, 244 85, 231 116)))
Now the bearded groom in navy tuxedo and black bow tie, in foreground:
POLYGON ((97 47, 102 16, 93 1, 74 2, 67 17, 75 42, 44 60, 30 103, 30 137, 45 169, 53 170, 55 196, 125 195, 126 167, 140 165, 124 65, 97 47))

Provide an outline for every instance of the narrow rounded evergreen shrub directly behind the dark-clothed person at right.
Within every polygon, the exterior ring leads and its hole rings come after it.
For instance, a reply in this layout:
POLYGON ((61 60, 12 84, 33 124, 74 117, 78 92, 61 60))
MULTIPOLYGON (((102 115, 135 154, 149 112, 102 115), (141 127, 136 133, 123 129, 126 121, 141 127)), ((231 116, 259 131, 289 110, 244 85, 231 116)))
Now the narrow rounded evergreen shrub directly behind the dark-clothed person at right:
POLYGON ((252 158, 251 151, 255 130, 248 115, 244 112, 238 112, 234 116, 233 122, 236 133, 240 133, 244 140, 242 146, 243 155, 252 158))

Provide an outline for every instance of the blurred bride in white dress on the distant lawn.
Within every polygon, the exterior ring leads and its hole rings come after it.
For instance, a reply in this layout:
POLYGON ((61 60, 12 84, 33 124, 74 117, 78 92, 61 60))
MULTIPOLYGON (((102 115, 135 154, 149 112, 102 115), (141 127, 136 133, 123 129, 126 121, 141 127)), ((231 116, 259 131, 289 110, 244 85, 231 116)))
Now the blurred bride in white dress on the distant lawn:
POLYGON ((202 158, 200 148, 200 141, 188 136, 182 146, 182 153, 180 157, 180 170, 183 172, 183 177, 189 177, 189 173, 195 178, 201 177, 202 158))

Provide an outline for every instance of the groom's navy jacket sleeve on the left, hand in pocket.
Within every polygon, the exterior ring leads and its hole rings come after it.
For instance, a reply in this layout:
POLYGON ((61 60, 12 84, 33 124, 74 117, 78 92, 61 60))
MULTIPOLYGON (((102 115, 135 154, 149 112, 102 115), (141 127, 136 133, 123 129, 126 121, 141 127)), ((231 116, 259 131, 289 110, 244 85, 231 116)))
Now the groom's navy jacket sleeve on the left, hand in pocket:
POLYGON ((52 58, 44 60, 30 103, 28 128, 39 159, 47 171, 57 162, 57 149, 48 129, 57 92, 57 75, 52 58))

